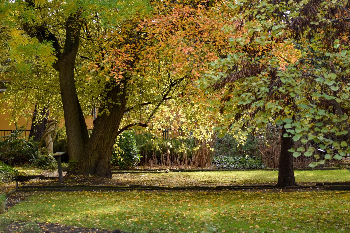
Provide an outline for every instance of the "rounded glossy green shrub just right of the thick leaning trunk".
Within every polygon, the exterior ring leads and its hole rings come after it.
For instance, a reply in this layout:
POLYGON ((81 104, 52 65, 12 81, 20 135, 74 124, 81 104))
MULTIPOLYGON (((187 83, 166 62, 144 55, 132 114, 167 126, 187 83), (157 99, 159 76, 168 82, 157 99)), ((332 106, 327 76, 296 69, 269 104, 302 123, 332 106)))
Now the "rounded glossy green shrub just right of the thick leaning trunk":
POLYGON ((112 166, 119 168, 135 167, 140 162, 141 156, 136 146, 133 131, 124 131, 120 134, 114 145, 112 153, 112 166))

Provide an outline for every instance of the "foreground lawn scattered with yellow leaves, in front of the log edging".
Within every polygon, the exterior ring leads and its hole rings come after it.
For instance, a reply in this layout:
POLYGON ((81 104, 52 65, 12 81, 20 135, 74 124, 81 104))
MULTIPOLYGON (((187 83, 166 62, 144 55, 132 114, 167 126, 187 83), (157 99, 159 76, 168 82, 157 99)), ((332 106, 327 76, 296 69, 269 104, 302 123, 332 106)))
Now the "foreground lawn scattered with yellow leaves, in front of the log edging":
POLYGON ((0 218, 127 232, 349 232, 349 191, 47 192, 0 218))

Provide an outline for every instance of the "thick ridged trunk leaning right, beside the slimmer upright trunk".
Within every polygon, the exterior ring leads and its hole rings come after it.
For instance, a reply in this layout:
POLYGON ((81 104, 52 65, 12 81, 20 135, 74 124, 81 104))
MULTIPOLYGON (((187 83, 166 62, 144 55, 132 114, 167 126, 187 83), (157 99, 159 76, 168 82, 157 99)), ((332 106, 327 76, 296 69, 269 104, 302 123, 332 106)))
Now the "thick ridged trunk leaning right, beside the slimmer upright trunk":
POLYGON ((125 111, 125 90, 115 85, 105 100, 108 101, 107 106, 101 106, 99 112, 108 109, 109 114, 103 112, 97 116, 89 143, 85 148, 84 159, 79 163, 78 174, 112 177, 111 156, 125 111))

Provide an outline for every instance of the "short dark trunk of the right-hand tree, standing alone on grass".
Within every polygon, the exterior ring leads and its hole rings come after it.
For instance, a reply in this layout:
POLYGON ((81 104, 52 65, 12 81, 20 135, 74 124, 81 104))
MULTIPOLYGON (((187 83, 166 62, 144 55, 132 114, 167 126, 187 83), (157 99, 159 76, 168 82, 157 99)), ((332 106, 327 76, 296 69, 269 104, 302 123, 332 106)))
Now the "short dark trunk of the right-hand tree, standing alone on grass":
POLYGON ((281 135, 280 161, 278 165, 278 182, 276 184, 278 187, 296 185, 293 170, 293 154, 288 151, 294 146, 294 141, 292 137, 283 137, 283 134, 285 133, 286 129, 283 128, 281 135))

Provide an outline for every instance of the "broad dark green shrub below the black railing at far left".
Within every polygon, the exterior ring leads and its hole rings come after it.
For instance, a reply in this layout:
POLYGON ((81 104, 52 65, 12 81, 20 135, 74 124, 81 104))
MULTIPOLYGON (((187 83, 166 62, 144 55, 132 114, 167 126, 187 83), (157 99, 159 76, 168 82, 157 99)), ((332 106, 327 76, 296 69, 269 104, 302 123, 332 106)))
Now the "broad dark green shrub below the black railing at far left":
POLYGON ((0 140, 0 160, 7 165, 17 165, 34 161, 38 158, 38 142, 20 138, 22 130, 16 130, 0 140))

